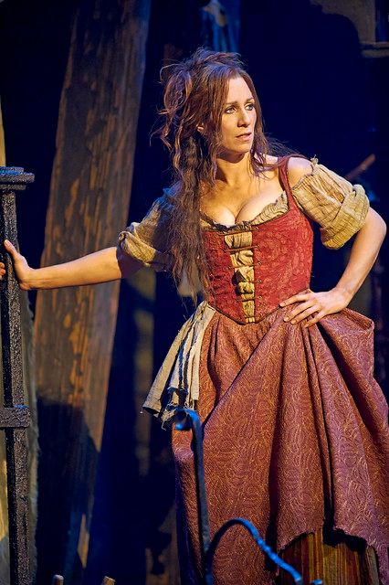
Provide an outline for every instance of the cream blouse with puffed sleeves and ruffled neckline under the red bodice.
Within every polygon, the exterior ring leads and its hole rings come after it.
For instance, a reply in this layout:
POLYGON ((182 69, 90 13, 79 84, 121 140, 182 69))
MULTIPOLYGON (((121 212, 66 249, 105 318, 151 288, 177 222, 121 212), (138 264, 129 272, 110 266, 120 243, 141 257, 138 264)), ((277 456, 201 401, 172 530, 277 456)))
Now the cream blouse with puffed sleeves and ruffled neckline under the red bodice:
MULTIPOLYGON (((338 249, 362 228, 369 210, 369 199, 363 186, 353 185, 336 175, 317 159, 312 159, 312 170, 291 187, 300 210, 320 225, 321 241, 327 248, 338 249)), ((208 218, 201 218, 206 229, 236 230, 237 227, 258 225, 277 218, 288 210, 288 197, 284 191, 275 203, 264 207, 256 218, 234 226, 224 226, 208 218)), ((150 266, 155 271, 169 270, 168 221, 173 214, 173 203, 167 195, 154 201, 141 223, 132 222, 119 234, 121 249, 150 266)))

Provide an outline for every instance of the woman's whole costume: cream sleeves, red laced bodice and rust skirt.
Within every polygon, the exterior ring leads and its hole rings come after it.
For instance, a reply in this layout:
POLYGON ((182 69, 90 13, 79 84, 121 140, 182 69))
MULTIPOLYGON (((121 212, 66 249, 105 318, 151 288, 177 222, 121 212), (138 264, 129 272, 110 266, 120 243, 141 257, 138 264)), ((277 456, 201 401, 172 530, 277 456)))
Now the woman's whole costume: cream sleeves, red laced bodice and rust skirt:
MULTIPOLYGON (((284 322, 290 309, 279 307, 310 286, 311 220, 339 248, 369 204, 361 186, 316 160, 290 187, 287 164, 282 195, 251 221, 226 227, 202 214, 209 298, 174 340, 144 408, 163 424, 179 404, 198 410, 212 533, 247 517, 305 580, 326 585, 377 584, 376 554, 387 585, 387 410, 373 379, 373 322, 345 309, 305 329, 284 322)), ((172 213, 166 192, 121 232, 122 249, 167 270, 172 213)), ((200 568, 190 443, 190 433, 173 431, 184 585, 199 582, 200 568)), ((241 527, 223 537, 214 569, 216 585, 275 582, 241 527)))

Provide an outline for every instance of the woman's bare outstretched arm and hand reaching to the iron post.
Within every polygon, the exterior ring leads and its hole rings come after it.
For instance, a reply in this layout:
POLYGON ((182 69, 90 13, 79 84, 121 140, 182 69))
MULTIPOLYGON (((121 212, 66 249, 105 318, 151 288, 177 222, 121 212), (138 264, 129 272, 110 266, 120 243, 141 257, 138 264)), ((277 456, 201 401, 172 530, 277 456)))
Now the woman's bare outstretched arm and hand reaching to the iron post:
MULTIPOLYGON (((99 250, 63 264, 34 269, 28 266, 26 258, 19 254, 10 241, 5 239, 4 246, 14 262, 19 286, 25 291, 116 281, 142 267, 140 261, 123 252, 118 246, 99 250)), ((0 279, 4 275, 5 266, 0 262, 0 279)))

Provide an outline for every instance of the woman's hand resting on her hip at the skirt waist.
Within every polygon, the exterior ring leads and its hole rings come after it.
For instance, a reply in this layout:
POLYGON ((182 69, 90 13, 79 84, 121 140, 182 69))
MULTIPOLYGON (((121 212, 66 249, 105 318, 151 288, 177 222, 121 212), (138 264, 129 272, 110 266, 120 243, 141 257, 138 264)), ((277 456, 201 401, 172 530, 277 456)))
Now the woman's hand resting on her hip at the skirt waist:
POLYGON ((298 324, 303 319, 308 319, 303 326, 310 327, 318 323, 326 314, 339 313, 350 301, 351 298, 348 298, 345 293, 336 288, 324 293, 313 293, 310 289, 307 289, 279 303, 279 306, 286 307, 290 304, 295 304, 292 310, 285 315, 284 321, 298 324))

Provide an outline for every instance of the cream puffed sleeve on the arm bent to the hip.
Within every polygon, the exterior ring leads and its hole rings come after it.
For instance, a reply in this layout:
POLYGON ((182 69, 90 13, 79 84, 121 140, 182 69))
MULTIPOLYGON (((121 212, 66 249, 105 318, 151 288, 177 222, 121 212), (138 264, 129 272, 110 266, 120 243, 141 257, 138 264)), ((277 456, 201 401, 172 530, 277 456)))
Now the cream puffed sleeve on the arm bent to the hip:
POLYGON ((312 159, 312 171, 292 186, 300 209, 321 226, 327 248, 341 248, 359 229, 369 210, 363 186, 352 185, 312 159))

